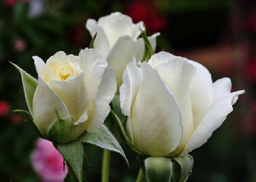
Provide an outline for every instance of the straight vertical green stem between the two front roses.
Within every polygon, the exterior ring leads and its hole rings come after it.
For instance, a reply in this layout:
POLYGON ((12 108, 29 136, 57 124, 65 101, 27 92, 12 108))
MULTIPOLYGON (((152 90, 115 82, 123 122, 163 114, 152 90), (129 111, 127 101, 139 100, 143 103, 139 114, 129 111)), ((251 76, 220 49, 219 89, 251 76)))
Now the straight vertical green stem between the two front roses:
POLYGON ((110 164, 110 154, 111 151, 104 149, 103 150, 103 159, 102 159, 102 182, 108 182, 109 181, 109 164, 110 164))

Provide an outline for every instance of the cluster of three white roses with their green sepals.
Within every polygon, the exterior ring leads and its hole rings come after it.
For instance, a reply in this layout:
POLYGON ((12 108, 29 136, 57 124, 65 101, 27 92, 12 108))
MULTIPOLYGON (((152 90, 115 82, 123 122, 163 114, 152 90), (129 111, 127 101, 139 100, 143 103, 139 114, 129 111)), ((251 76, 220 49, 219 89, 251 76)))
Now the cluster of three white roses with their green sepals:
POLYGON ((88 19, 86 28, 92 37, 97 33, 93 49, 81 50, 79 56, 57 52, 46 63, 33 57, 38 80, 14 65, 22 75, 28 122, 63 155, 75 174, 69 177, 81 181, 81 143, 125 158, 104 125, 112 102, 113 121, 142 159, 147 180, 186 180, 193 166, 188 153, 207 142, 244 91, 231 92, 229 78, 213 82, 209 71, 195 61, 168 52, 154 54, 160 33, 147 37, 143 22, 134 24, 120 12, 98 21, 88 19), (119 102, 113 100, 115 95, 119 102), (127 116, 127 133, 115 114, 116 105, 127 116), (180 164, 180 175, 172 176, 170 159, 180 164), (169 175, 161 175, 166 169, 169 175))

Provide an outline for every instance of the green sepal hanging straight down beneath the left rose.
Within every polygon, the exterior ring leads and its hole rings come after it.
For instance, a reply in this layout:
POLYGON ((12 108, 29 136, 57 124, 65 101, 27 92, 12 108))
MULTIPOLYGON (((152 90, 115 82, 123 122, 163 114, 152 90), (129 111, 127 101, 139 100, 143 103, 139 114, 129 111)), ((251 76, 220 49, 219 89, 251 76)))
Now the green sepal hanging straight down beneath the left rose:
POLYGON ((57 143, 57 149, 66 160, 68 165, 71 181, 82 181, 82 163, 84 149, 80 141, 72 141, 68 143, 57 143))

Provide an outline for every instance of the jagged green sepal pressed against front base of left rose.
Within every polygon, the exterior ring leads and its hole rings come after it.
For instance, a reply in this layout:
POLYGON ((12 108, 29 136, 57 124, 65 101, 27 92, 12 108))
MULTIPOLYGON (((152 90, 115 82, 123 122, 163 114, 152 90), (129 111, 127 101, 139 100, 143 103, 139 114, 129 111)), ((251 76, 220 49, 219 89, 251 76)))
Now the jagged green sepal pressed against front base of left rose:
POLYGON ((72 136, 74 125, 74 117, 70 116, 68 118, 62 119, 60 118, 59 113, 55 109, 57 119, 54 124, 51 126, 48 132, 49 138, 53 141, 57 141, 59 143, 67 143, 69 141, 73 141, 77 139, 76 135, 72 136))

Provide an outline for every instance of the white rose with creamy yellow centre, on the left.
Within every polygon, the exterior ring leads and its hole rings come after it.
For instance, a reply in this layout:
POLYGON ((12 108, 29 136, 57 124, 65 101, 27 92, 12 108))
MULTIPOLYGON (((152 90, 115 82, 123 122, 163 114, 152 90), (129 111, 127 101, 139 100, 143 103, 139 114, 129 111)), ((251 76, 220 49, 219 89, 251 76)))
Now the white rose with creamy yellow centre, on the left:
POLYGON ((35 56, 38 72, 32 117, 40 132, 60 143, 100 129, 116 91, 114 71, 96 49, 79 56, 57 52, 46 64, 35 56), (60 118, 58 118, 60 117, 60 118))

